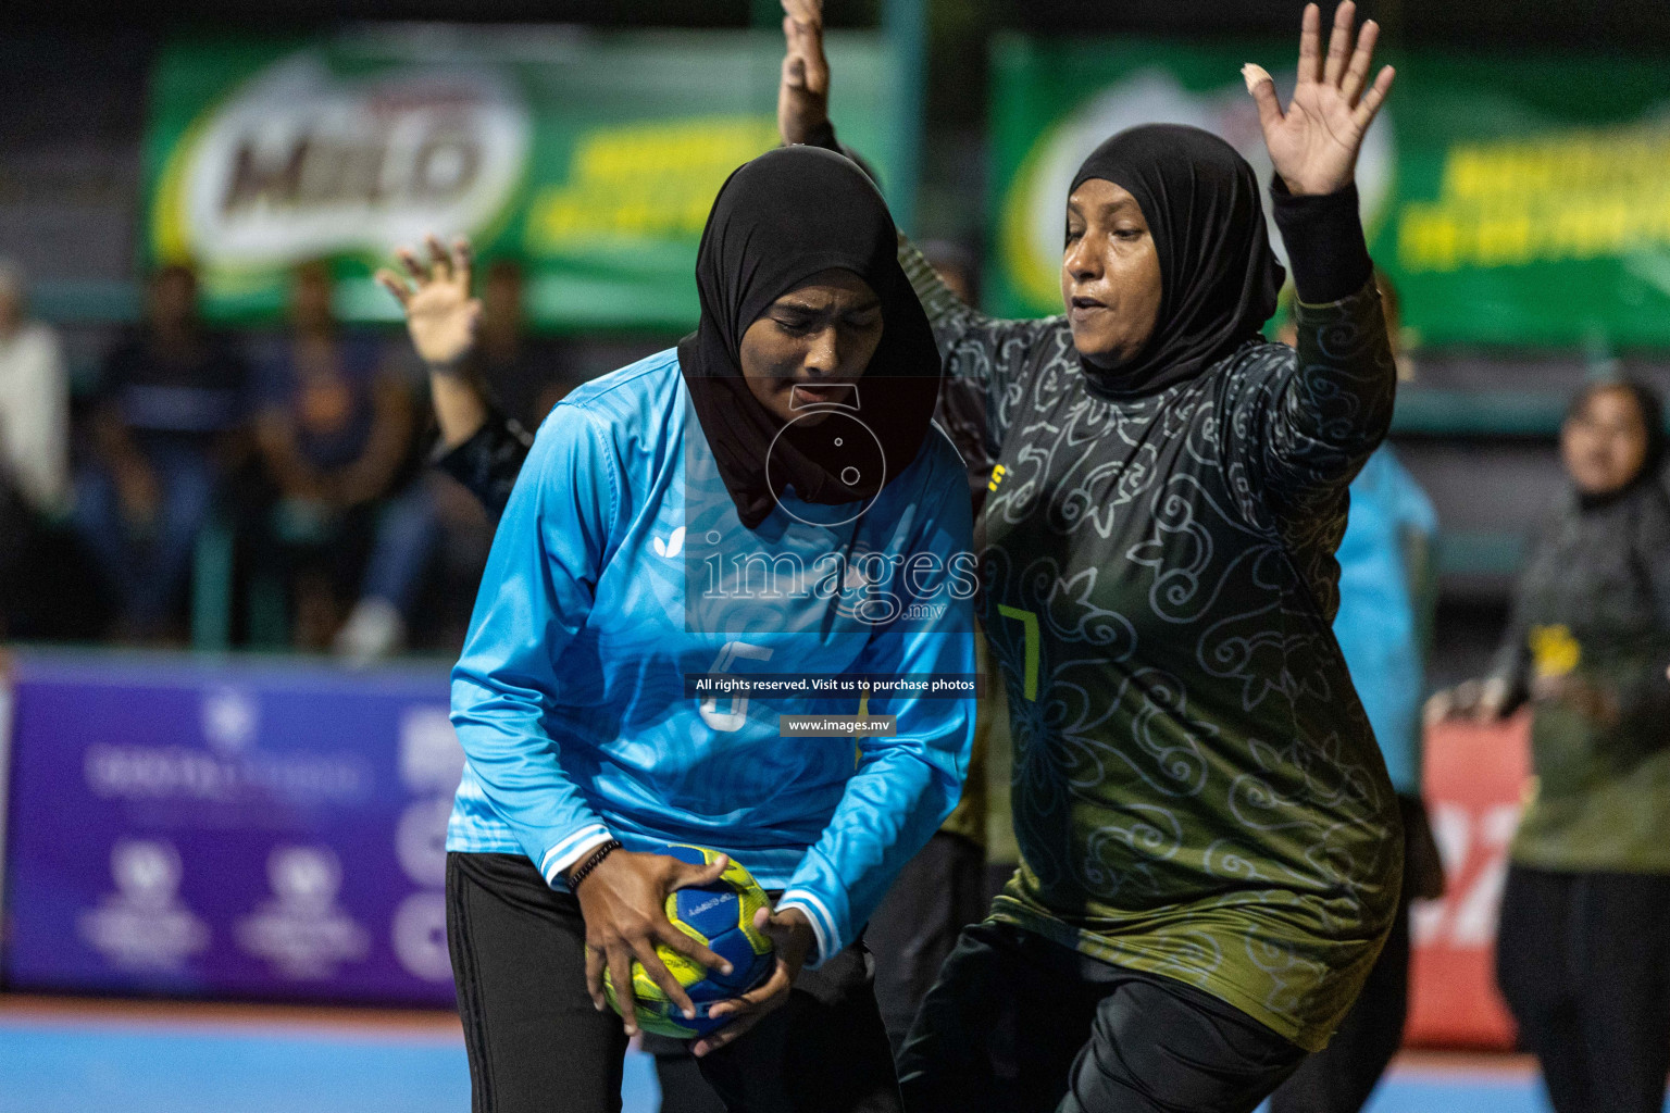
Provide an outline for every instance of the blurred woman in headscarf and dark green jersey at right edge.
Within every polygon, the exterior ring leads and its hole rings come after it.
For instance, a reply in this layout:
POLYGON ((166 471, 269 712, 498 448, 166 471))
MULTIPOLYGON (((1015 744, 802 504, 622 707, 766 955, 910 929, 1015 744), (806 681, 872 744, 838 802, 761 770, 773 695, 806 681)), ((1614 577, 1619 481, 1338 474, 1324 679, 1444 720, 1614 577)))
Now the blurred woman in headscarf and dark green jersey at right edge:
POLYGON ((1496 980, 1556 1113, 1657 1113, 1670 1071, 1670 499, 1658 395, 1597 382, 1560 432, 1573 491, 1531 546, 1496 664, 1428 719, 1531 706, 1531 796, 1496 980))

